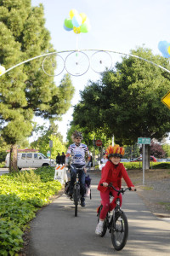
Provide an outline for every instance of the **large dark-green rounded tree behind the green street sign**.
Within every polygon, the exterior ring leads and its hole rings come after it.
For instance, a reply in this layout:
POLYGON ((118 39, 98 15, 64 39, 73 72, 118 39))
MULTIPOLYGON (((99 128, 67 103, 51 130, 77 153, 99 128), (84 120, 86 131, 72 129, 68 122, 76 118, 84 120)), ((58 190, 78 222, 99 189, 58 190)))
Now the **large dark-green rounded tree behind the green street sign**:
MULTIPOLYGON (((150 49, 135 49, 133 55, 170 69, 167 59, 150 49)), ((170 90, 169 73, 133 56, 125 56, 114 70, 105 72, 97 83, 89 82, 74 109, 74 124, 102 129, 116 143, 131 145, 138 137, 161 140, 170 130, 170 112, 161 97, 170 90), (80 113, 83 113, 81 115, 80 113)), ((150 148, 145 146, 146 167, 150 148)))

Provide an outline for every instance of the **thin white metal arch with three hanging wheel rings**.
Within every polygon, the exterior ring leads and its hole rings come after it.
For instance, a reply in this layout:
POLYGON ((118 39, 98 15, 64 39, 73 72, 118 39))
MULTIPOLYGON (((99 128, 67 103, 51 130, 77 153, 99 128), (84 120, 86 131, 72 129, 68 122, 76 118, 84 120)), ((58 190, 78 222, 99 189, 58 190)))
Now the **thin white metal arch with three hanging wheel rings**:
POLYGON ((66 70, 67 73, 70 73, 73 76, 82 76, 84 73, 88 72, 89 67, 91 67, 95 73, 103 73, 105 71, 111 70, 112 54, 126 55, 131 56, 133 58, 137 58, 141 61, 147 61, 151 65, 159 67, 167 73, 170 73, 170 70, 168 70, 167 68, 161 67, 161 65, 158 65, 153 61, 146 60, 138 55, 126 54, 114 50, 82 49, 81 51, 63 50, 59 52, 38 55, 26 61, 22 61, 14 65, 13 67, 9 67, 7 70, 5 69, 5 67, 0 66, 0 77, 3 76, 5 73, 8 73, 15 67, 19 67, 22 64, 42 57, 44 57, 44 60, 42 61, 42 70, 48 76, 58 76, 64 70, 66 70), (85 52, 88 52, 88 54, 86 54, 85 52), (90 52, 94 52, 94 54, 88 56, 90 52), (64 60, 64 58, 61 55, 66 53, 70 54, 68 54, 64 60))

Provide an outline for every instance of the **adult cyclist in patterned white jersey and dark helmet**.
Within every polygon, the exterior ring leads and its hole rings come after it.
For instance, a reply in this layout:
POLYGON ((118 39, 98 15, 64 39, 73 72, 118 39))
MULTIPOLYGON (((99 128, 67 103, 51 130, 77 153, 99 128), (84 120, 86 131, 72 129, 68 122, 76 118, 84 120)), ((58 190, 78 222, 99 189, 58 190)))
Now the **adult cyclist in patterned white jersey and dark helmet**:
POLYGON ((71 144, 65 155, 65 166, 68 165, 68 162, 71 157, 71 183, 70 183, 70 196, 73 193, 74 183, 77 177, 77 168, 80 168, 79 172, 79 180, 80 180, 80 194, 81 194, 81 206, 85 207, 85 192, 86 192, 86 184, 85 177, 87 169, 86 165, 86 155, 88 154, 88 158, 90 157, 87 145, 82 143, 82 132, 74 131, 72 136, 73 144, 71 144), (84 167, 84 168, 83 168, 84 167), (82 169, 81 169, 82 168, 82 169))

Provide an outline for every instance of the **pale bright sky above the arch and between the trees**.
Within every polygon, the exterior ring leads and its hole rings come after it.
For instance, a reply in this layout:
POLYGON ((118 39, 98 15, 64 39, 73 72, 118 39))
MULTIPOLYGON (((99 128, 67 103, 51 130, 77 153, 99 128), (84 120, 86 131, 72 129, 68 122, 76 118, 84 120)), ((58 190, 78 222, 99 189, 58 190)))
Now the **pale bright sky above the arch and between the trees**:
MULTIPOLYGON (((46 23, 51 34, 51 43, 57 51, 74 49, 107 49, 129 54, 131 49, 146 47, 154 55, 161 55, 158 49, 160 41, 170 42, 170 1, 169 0, 32 0, 32 6, 43 4, 46 23), (84 13, 90 20, 88 33, 75 34, 64 29, 64 20, 69 18, 71 9, 84 13)), ((122 55, 111 55, 113 66, 122 55)), ((55 77, 56 84, 63 78, 65 71, 55 77)), ((98 80, 99 73, 89 68, 82 76, 71 76, 75 87, 75 96, 71 104, 81 99, 79 91, 88 84, 88 80, 98 80)), ((66 139, 66 131, 72 119, 71 108, 57 122, 59 132, 66 139)), ((37 122, 45 123, 38 120, 37 122)), ((46 122, 48 125, 48 122, 46 122)), ((31 137, 31 141, 36 137, 31 137)))

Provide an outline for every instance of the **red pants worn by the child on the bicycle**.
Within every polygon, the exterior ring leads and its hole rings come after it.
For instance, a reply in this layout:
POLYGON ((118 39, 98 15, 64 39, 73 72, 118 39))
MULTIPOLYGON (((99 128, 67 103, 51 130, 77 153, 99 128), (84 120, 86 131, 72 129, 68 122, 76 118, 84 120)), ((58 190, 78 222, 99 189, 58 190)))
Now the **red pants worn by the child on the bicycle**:
MULTIPOLYGON (((119 189, 119 188, 116 188, 119 189)), ((101 197, 101 203, 102 203, 102 210, 100 212, 99 218, 105 219, 105 216, 107 215, 107 212, 113 210, 116 207, 116 202, 114 201, 114 197, 117 196, 117 192, 113 189, 107 189, 105 192, 100 192, 101 197), (113 195, 113 200, 110 203, 110 192, 113 195)), ((119 195, 120 203, 122 206, 122 194, 119 195)))

